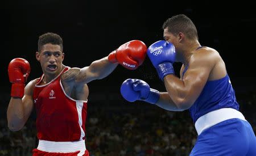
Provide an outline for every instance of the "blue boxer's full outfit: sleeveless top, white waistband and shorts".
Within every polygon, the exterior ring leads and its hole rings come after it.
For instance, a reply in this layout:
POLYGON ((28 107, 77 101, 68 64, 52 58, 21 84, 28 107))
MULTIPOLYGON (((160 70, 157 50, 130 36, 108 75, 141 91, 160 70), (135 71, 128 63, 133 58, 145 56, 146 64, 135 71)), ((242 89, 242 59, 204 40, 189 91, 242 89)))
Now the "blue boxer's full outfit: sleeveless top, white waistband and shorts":
MULTIPOLYGON (((188 65, 183 75, 187 69, 188 65)), ((189 112, 198 134, 189 156, 256 155, 253 128, 239 111, 228 74, 207 81, 189 112)))

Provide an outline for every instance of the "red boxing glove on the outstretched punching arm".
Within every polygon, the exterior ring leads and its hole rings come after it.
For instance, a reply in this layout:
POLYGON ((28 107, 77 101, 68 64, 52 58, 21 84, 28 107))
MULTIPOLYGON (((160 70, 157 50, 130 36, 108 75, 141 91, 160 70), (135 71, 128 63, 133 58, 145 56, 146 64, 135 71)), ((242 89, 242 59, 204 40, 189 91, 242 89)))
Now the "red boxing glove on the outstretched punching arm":
POLYGON ((113 64, 119 63, 127 69, 134 70, 146 58, 147 46, 139 40, 132 40, 121 45, 109 54, 108 59, 113 64))

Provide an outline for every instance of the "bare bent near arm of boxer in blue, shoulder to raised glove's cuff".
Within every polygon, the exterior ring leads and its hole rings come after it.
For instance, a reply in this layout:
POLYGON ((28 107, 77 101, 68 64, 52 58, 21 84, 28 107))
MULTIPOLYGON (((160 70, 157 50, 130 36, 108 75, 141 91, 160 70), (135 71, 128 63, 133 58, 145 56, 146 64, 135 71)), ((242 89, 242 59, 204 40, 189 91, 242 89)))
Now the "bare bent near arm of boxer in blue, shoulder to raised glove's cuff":
POLYGON ((202 49, 192 57, 183 79, 173 74, 164 77, 168 95, 179 109, 188 109, 196 101, 220 56, 213 50, 202 49))

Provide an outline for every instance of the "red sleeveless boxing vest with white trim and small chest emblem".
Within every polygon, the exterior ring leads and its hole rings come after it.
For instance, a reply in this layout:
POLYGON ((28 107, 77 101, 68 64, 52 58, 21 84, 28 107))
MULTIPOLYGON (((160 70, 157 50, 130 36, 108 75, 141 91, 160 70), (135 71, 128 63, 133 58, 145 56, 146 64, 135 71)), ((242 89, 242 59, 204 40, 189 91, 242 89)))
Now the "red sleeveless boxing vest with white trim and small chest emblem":
POLYGON ((65 93, 61 84, 61 73, 46 85, 39 86, 40 77, 34 89, 36 129, 39 140, 78 141, 85 139, 87 100, 75 100, 65 93))

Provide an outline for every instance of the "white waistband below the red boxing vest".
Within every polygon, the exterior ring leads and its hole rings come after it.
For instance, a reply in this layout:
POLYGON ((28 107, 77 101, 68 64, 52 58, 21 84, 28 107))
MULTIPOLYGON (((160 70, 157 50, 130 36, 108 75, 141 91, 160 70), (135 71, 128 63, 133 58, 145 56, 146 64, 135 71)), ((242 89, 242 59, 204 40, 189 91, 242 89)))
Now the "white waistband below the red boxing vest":
POLYGON ((75 151, 85 151, 85 141, 72 141, 72 142, 55 142, 39 140, 38 150, 47 152, 57 152, 57 153, 71 153, 75 151))

